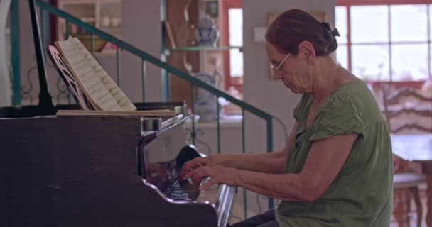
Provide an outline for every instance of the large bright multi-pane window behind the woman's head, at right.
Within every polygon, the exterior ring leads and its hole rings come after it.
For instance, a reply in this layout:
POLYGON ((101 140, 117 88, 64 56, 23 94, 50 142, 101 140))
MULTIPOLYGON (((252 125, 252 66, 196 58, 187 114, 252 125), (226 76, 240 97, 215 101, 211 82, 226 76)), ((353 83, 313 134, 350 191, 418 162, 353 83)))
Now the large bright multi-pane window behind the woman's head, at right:
POLYGON ((337 0, 338 62, 371 82, 431 79, 432 0, 337 0))

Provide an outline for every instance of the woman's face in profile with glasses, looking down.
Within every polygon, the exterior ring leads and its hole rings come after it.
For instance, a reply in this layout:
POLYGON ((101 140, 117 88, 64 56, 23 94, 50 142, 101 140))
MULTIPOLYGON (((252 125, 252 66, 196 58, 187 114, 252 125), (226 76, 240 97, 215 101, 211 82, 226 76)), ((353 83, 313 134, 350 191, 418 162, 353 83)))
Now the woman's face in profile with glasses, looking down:
POLYGON ((266 49, 276 78, 281 79, 285 86, 294 93, 312 91, 315 79, 311 73, 311 65, 308 65, 306 55, 301 50, 299 50, 298 55, 279 52, 269 42, 266 42, 266 49), (286 57, 287 55, 288 57, 286 57))

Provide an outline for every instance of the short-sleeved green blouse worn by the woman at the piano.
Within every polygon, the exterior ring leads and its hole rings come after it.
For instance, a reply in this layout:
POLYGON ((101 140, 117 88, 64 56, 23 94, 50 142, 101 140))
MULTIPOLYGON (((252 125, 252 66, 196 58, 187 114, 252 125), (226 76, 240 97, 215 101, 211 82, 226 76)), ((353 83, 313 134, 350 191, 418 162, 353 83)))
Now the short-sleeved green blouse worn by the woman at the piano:
POLYGON ((372 92, 361 80, 342 84, 321 104, 306 128, 311 103, 311 94, 303 94, 294 110, 299 126, 286 162, 287 173, 301 172, 313 141, 352 133, 359 137, 342 170, 319 199, 279 204, 279 226, 389 226, 392 145, 372 92))

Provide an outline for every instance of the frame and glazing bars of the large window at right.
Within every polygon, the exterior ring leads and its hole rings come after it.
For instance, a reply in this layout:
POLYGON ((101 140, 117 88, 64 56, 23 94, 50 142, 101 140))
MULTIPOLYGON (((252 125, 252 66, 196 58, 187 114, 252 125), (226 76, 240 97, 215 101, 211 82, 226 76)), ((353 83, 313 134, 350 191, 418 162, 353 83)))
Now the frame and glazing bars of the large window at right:
MULTIPOLYGON (((347 46, 347 65, 348 65, 348 70, 352 71, 352 40, 351 40, 351 15, 350 15, 350 7, 351 6, 374 6, 374 5, 387 5, 387 7, 392 6, 392 5, 408 5, 408 4, 426 4, 428 6, 428 40, 426 40, 425 42, 423 41, 415 41, 415 42, 409 42, 409 43, 427 43, 428 44, 428 79, 432 79, 432 65, 431 65, 431 60, 432 60, 432 54, 431 54, 431 26, 429 23, 431 23, 431 13, 432 13, 432 0, 336 0, 336 6, 345 6, 346 7, 346 11, 347 11, 347 43, 344 43, 344 45, 347 46)), ((391 21, 389 21, 387 23, 388 28, 391 26, 391 21)), ((390 28, 389 28, 390 29, 390 28)), ((392 40, 389 38, 389 41, 386 43, 387 45, 389 45, 389 81, 370 81, 373 84, 376 83, 396 83, 396 84, 401 84, 401 85, 411 85, 410 87, 414 86, 414 87, 419 87, 419 84, 423 84, 423 82, 425 82, 425 80, 419 80, 419 81, 413 81, 413 80, 408 80, 408 81, 397 81, 394 82, 393 81, 393 75, 392 75, 392 45, 394 44, 398 44, 398 43, 406 43, 406 42, 392 42, 392 40)), ((370 43, 370 44, 374 44, 374 43, 370 43)), ((356 45, 356 44, 354 44, 356 45)))

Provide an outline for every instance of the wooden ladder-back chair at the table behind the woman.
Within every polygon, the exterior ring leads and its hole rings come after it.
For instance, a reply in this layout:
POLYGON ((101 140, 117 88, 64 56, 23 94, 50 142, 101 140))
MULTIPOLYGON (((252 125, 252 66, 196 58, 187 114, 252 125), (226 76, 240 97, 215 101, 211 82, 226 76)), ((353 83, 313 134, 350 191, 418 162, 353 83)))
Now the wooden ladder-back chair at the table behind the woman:
MULTIPOLYGON (((432 133, 432 97, 423 96, 415 89, 402 87, 391 91, 381 86, 383 112, 391 133, 432 133)), ((409 172, 406 162, 394 158, 394 218, 399 227, 409 226, 411 198, 416 205, 416 226, 421 226, 423 209, 419 186, 425 183, 423 175, 409 172)))

